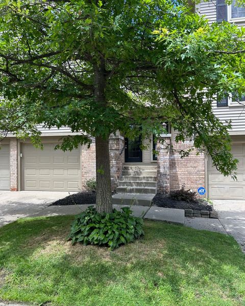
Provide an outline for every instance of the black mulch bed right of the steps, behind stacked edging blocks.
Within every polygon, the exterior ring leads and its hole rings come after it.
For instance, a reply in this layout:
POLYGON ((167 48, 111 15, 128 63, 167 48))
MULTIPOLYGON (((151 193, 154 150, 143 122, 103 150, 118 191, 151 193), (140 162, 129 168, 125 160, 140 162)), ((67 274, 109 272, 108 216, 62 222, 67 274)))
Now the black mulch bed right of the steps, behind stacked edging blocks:
POLYGON ((204 200, 197 202, 185 202, 168 198, 164 194, 157 193, 153 198, 153 205, 158 207, 178 208, 178 209, 193 209, 193 210, 212 210, 212 206, 206 204, 204 200))

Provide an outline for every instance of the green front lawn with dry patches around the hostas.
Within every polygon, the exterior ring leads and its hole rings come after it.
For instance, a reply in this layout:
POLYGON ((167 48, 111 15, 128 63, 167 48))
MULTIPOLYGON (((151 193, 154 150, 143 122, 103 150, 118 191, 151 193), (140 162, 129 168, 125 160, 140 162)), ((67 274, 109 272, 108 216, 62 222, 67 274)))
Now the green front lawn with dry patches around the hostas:
POLYGON ((230 236, 145 221, 110 252, 65 241, 73 216, 0 228, 0 298, 37 305, 245 305, 245 256, 230 236))

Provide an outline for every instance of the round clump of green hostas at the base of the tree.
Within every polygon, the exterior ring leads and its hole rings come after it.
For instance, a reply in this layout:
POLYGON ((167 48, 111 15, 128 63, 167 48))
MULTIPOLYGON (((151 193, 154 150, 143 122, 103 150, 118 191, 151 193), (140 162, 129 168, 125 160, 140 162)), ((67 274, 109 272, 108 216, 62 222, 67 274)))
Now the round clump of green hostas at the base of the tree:
POLYGON ((84 245, 109 246, 110 250, 133 242, 144 234, 143 219, 131 215, 129 207, 121 210, 113 209, 112 213, 100 214, 89 206, 76 217, 68 239, 72 244, 81 242, 84 245))

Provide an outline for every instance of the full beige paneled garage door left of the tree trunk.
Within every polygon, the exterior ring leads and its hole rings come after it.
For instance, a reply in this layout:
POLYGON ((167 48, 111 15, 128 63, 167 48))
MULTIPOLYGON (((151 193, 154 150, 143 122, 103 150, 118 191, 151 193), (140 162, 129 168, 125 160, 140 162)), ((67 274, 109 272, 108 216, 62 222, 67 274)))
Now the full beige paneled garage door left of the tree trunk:
POLYGON ((80 150, 54 150, 44 143, 43 150, 23 146, 24 190, 77 191, 80 188, 80 150))

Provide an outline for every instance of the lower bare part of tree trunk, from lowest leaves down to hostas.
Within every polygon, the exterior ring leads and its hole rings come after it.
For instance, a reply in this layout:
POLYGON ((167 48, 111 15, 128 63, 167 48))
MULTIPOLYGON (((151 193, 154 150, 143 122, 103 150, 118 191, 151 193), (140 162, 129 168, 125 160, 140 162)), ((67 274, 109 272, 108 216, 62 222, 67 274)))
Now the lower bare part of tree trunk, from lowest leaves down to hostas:
POLYGON ((95 137, 96 150, 96 210, 112 212, 109 139, 95 137))

